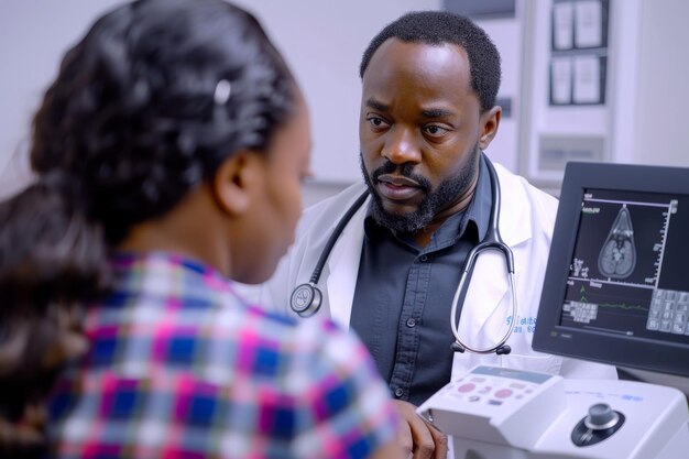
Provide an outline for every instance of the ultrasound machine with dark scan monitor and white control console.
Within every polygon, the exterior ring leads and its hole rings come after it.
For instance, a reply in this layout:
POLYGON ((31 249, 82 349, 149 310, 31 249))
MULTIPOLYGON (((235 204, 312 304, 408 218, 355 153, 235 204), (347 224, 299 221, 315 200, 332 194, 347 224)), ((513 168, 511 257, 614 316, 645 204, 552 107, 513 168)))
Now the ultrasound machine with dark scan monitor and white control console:
MULTIPOLYGON (((533 348, 689 381, 689 168, 567 165, 533 348)), ((689 458, 677 385, 475 367, 417 413, 456 459, 689 458)))

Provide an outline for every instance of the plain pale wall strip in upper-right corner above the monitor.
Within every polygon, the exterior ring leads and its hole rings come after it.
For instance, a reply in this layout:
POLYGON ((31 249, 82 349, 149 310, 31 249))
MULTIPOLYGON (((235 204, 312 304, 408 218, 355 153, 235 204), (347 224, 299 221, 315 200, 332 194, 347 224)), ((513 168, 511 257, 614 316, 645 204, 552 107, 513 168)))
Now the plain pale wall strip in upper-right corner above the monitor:
POLYGON ((616 4, 612 161, 689 166, 689 2, 616 4))

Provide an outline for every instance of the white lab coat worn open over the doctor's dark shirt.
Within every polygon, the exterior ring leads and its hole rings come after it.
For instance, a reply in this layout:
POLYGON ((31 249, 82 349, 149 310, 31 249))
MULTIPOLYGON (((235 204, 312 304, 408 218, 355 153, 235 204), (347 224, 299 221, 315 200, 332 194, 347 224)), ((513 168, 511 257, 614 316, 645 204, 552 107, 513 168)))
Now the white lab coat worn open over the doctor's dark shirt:
MULTIPOLYGON (((512 347, 508 356, 455 352, 452 378, 475 364, 540 371, 566 378, 616 378, 614 367, 532 350, 532 327, 537 317, 557 200, 501 165, 495 164, 495 170, 502 190, 500 231, 514 253, 517 328, 507 341, 512 347)), ((294 314, 289 308, 294 287, 308 282, 336 225, 363 190, 363 184, 352 185, 307 209, 299 221, 295 244, 281 261, 274 276, 261 287, 260 296, 254 298, 264 305, 275 305, 280 312, 294 314)), ((322 306, 317 314, 330 315, 346 328, 349 327, 357 283, 367 207, 362 206, 342 231, 319 282, 322 306)), ((492 347, 504 336, 506 317, 511 316, 512 294, 503 260, 495 251, 483 252, 478 259, 460 320, 460 336, 472 347, 492 347)))

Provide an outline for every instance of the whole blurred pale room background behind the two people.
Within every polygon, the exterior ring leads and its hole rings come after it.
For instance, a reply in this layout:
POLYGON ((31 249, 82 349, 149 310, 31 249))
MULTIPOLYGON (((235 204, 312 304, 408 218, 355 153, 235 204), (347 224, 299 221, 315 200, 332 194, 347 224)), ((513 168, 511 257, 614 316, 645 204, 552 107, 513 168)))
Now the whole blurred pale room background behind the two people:
MULTIPOLYGON (((30 179, 31 116, 66 48, 121 0, 0 2, 0 198, 30 179)), ((558 195, 568 161, 689 166, 689 1, 236 0, 286 56, 311 109, 305 206, 360 179, 358 69, 406 11, 474 19, 503 59, 489 156, 558 195)))

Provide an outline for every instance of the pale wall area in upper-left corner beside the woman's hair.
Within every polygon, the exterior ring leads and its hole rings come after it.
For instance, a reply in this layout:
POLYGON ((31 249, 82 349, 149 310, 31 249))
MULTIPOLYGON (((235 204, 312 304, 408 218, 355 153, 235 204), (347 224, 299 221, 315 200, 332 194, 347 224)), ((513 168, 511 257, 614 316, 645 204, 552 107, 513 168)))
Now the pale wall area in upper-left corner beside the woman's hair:
POLYGON ((118 0, 0 1, 0 197, 29 179, 31 117, 62 54, 118 0))

